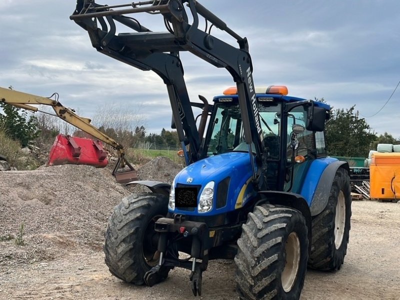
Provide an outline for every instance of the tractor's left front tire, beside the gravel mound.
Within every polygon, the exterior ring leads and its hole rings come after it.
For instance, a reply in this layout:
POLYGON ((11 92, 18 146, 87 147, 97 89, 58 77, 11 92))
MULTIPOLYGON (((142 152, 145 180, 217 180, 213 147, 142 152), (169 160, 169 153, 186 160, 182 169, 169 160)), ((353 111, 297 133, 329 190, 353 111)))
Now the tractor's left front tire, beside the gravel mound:
MULTIPOLYGON (((137 285, 158 264, 154 222, 167 213, 168 198, 157 193, 131 194, 114 207, 104 233, 105 264, 114 276, 137 285)), ((162 279, 167 277, 167 271, 162 279)))

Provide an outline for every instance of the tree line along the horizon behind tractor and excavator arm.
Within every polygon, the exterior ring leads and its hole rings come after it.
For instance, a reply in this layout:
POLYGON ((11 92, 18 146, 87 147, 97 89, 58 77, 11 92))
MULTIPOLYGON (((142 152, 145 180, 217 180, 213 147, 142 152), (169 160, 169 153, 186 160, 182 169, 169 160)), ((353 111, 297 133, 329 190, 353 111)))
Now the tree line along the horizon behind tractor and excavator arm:
MULTIPOLYGON (((316 99, 325 102, 324 99, 316 99)), ((22 147, 29 143, 37 147, 51 146, 58 133, 73 135, 76 128, 61 119, 46 114, 38 116, 15 106, 0 103, 0 130, 18 141, 22 147)), ((178 149, 180 143, 175 130, 162 128, 159 134, 147 133, 142 117, 137 113, 127 114, 124 107, 102 108, 95 115, 95 124, 105 134, 120 142, 125 148, 143 144, 153 148, 178 149)), ((390 133, 377 135, 365 118, 360 117, 355 105, 350 108, 332 108, 326 122, 325 141, 328 155, 366 157, 378 143, 400 144, 390 133)))

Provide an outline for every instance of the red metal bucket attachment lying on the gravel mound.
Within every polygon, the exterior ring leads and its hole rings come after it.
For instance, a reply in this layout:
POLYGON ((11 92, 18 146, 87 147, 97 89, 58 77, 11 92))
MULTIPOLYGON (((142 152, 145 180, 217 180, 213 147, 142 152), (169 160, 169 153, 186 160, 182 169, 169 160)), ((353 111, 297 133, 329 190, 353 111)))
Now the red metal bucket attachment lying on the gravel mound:
POLYGON ((99 140, 58 134, 48 155, 47 165, 67 163, 104 167, 108 163, 107 153, 99 140))

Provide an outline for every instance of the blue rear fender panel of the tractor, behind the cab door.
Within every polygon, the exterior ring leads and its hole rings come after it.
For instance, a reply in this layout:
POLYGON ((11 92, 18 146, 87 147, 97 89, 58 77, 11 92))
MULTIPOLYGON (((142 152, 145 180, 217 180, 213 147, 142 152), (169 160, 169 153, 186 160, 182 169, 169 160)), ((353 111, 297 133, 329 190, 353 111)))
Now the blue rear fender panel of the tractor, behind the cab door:
POLYGON ((303 198, 307 201, 308 206, 312 203, 312 197, 323 170, 334 161, 337 161, 337 159, 332 157, 323 157, 312 161, 304 178, 304 183, 300 192, 303 198))

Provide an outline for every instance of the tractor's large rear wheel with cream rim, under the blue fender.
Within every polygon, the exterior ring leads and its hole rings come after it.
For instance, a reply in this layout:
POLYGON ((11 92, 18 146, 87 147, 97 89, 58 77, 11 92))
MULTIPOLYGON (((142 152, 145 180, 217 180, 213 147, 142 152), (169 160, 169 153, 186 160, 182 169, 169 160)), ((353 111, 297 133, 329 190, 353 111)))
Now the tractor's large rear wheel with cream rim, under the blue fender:
POLYGON ((309 267, 338 270, 347 251, 351 218, 350 177, 338 168, 325 209, 312 219, 309 267))

